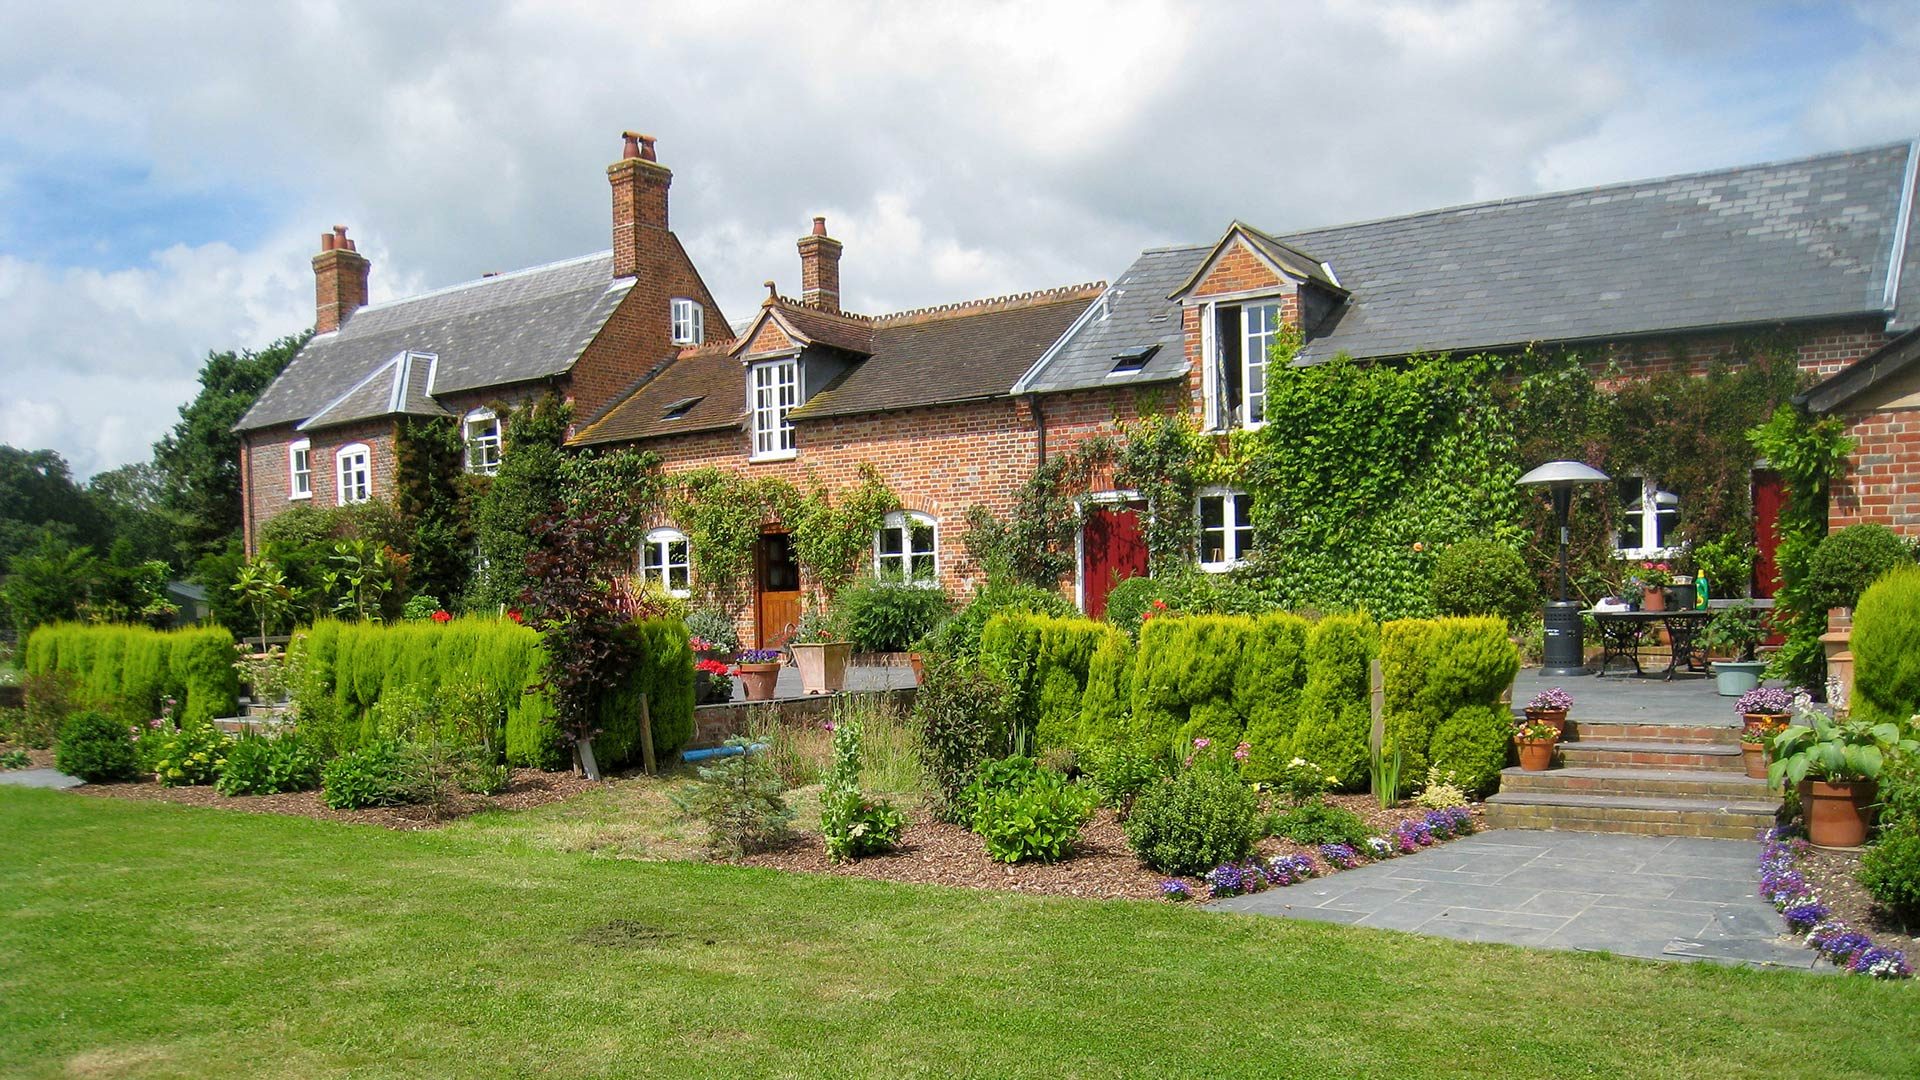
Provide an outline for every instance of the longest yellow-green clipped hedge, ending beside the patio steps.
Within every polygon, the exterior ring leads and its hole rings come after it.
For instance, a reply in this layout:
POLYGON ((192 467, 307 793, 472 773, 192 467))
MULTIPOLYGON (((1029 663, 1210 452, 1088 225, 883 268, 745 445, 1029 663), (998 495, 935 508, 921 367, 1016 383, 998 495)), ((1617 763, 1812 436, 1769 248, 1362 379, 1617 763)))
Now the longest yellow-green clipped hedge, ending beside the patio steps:
POLYGON ((1275 780, 1306 757, 1346 788, 1367 782, 1371 661, 1386 680, 1386 751, 1402 776, 1428 765, 1490 790, 1507 761, 1500 696, 1519 671, 1501 619, 1365 615, 1158 617, 1140 644, 1104 623, 996 615, 981 657, 1012 688, 1010 715, 1039 749, 1127 744, 1148 753, 1212 738, 1248 744, 1242 774, 1275 780))

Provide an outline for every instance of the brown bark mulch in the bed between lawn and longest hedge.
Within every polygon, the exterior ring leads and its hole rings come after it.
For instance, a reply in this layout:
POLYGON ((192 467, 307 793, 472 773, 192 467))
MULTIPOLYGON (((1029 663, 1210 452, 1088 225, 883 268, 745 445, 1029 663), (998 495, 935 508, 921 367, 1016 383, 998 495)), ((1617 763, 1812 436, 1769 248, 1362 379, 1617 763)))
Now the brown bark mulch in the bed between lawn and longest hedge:
MULTIPOLYGON (((1427 815, 1425 809, 1415 805, 1380 809, 1371 796, 1331 796, 1327 801, 1357 813, 1375 832, 1386 832, 1400 821, 1421 819, 1427 815)), ((1475 819, 1478 819, 1480 807, 1473 807, 1473 813, 1475 819)), ((1319 857, 1319 851, 1286 840, 1265 838, 1254 846, 1254 851, 1260 857, 1294 853, 1313 855, 1313 861, 1323 874, 1336 872, 1325 859, 1319 857)), ((831 863, 828 861, 826 844, 820 834, 803 832, 785 849, 747 855, 741 863, 749 867, 772 867, 778 871, 841 874, 889 882, 991 888, 1096 899, 1158 899, 1162 896, 1160 882, 1167 880, 1165 874, 1158 874, 1140 865, 1140 861, 1133 855, 1133 849, 1127 847, 1127 836, 1121 832, 1119 819, 1116 819, 1110 809, 1094 811, 1094 817, 1081 830, 1081 842, 1075 846, 1073 853, 1052 865, 1027 863, 1008 867, 1006 863, 995 863, 987 857, 987 849, 979 836, 973 836, 973 832, 960 828, 958 824, 933 821, 924 813, 916 813, 908 822, 906 832, 900 838, 900 847, 885 855, 868 855, 851 863, 831 863)), ((1185 880, 1196 897, 1206 896, 1204 882, 1198 878, 1185 880)))

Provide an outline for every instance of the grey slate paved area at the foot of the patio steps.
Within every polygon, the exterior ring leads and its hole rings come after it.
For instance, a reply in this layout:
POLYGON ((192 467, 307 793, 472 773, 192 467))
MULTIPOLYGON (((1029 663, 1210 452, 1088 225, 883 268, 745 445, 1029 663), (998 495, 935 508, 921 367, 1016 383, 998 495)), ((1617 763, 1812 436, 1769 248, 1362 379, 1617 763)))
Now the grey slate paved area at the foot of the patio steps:
POLYGON ((1824 970, 1755 896, 1761 846, 1490 830, 1210 909, 1463 942, 1824 970))

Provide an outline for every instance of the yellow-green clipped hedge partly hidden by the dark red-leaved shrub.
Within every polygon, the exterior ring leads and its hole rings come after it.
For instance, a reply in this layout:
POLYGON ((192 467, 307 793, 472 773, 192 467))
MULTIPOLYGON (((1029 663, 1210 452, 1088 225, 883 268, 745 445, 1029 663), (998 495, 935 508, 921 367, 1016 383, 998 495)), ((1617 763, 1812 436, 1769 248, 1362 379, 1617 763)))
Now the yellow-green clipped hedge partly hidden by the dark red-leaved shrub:
MULTIPOLYGON (((678 619, 636 623, 641 665, 601 703, 593 757, 603 769, 639 761, 639 696, 647 694, 655 751, 670 755, 693 738, 693 653, 678 619)), ((374 738, 371 711, 382 696, 411 690, 432 700, 447 680, 486 680, 509 694, 507 761, 536 769, 564 765, 553 703, 540 688, 540 634, 505 619, 451 623, 321 621, 296 634, 292 661, 315 692, 332 698, 344 728, 374 738)))

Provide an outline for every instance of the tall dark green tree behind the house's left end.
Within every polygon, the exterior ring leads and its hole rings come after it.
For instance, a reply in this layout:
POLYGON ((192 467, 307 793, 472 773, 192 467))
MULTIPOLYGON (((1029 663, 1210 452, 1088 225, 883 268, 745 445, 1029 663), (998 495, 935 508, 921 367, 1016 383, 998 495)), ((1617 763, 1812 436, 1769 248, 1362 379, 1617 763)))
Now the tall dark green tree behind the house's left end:
POLYGON ((180 565, 217 552, 240 530, 240 436, 232 427, 303 344, 307 334, 294 334, 259 352, 207 354, 200 394, 180 405, 180 421, 154 444, 165 507, 180 530, 180 565))

